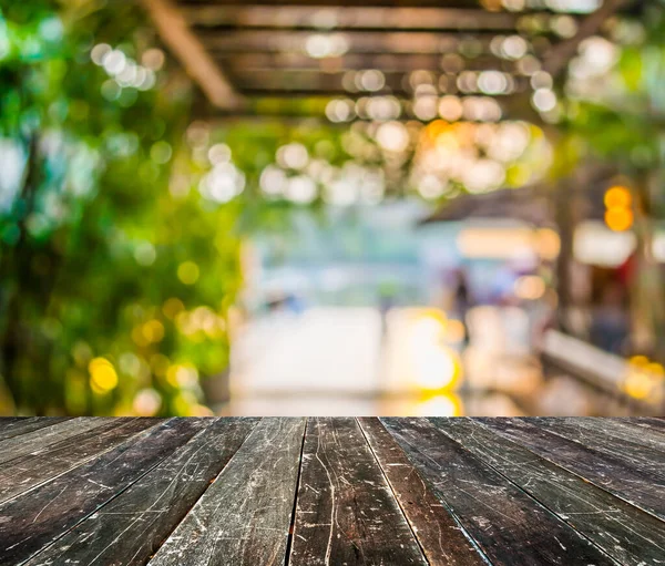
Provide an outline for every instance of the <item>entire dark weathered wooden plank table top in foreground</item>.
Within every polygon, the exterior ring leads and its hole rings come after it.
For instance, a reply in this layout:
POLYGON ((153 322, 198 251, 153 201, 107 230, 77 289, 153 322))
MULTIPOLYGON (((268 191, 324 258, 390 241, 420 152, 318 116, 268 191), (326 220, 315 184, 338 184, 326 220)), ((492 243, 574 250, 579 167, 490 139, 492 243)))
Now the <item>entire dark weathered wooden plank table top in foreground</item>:
POLYGON ((0 564, 663 565, 665 420, 3 419, 0 564))

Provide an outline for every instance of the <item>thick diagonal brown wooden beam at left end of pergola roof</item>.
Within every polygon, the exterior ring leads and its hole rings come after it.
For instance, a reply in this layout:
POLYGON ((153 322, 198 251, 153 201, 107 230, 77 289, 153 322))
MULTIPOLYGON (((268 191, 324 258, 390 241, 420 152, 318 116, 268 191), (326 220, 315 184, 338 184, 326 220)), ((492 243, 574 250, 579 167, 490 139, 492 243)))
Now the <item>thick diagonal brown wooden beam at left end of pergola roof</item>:
POLYGON ((242 99, 226 79, 206 48, 192 33, 187 21, 171 0, 141 0, 150 13, 164 44, 180 60, 213 105, 232 110, 242 99))

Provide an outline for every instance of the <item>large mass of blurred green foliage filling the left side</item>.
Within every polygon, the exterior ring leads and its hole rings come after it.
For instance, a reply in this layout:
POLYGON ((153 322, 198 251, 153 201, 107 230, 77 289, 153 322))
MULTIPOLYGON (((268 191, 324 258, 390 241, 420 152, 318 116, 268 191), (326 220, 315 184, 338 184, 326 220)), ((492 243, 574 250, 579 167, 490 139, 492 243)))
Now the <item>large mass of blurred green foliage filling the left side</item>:
POLYGON ((237 205, 170 188, 196 169, 188 83, 167 61, 121 88, 91 61, 100 43, 141 61, 144 18, 0 1, 0 159, 18 172, 0 185, 0 412, 205 413, 198 372, 227 366, 237 205))

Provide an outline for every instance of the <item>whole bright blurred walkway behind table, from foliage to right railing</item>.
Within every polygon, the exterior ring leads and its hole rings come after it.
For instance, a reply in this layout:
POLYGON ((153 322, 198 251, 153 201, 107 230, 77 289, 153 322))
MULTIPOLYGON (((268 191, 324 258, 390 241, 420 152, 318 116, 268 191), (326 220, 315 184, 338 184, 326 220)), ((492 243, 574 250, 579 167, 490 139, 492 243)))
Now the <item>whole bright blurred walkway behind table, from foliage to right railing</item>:
POLYGON ((519 308, 478 307, 459 322, 396 308, 311 308, 250 321, 236 338, 224 415, 630 414, 530 350, 519 308), (456 330, 457 329, 457 330, 456 330), (457 338, 454 332, 456 330, 457 338), (462 369, 463 360, 463 369, 462 369))

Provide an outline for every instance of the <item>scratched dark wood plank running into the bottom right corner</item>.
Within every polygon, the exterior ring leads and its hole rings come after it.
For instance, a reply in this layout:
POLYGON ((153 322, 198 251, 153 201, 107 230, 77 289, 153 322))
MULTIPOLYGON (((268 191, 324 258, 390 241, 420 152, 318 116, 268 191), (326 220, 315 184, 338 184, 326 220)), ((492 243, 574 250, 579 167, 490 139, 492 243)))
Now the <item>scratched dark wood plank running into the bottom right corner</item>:
POLYGON ((665 523, 469 419, 430 419, 621 564, 657 564, 665 523))

